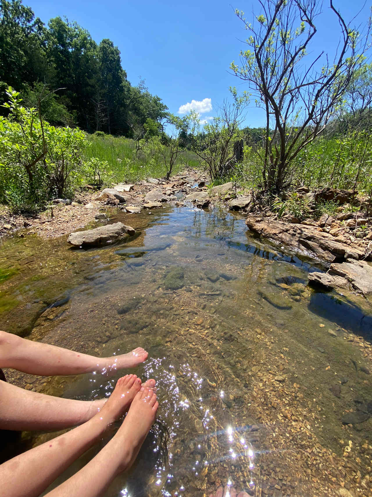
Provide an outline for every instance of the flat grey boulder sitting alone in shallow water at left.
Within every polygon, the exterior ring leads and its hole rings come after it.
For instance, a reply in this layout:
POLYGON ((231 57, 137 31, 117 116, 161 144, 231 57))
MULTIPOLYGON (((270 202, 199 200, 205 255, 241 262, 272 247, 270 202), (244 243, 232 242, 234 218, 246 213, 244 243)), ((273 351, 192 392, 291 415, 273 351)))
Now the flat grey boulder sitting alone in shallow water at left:
POLYGON ((71 233, 67 242, 75 247, 104 245, 124 237, 132 236, 135 230, 123 223, 108 224, 93 230, 71 233))

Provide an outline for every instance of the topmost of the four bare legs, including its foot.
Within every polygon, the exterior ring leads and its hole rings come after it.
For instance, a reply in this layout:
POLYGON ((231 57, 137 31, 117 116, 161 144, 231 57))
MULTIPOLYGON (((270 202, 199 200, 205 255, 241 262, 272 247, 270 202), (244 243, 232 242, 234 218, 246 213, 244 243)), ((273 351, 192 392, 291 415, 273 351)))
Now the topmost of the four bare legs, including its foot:
POLYGON ((75 375, 131 368, 145 361, 147 356, 146 350, 137 347, 126 354, 94 357, 0 331, 0 367, 29 374, 75 375))

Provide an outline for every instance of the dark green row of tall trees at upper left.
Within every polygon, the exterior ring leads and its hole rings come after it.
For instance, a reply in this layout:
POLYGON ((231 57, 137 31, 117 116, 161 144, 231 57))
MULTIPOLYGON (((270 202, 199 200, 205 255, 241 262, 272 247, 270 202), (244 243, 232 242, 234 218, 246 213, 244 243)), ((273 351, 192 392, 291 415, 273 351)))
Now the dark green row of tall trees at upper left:
POLYGON ((2 101, 8 85, 21 91, 27 106, 40 104, 51 124, 89 133, 136 137, 147 119, 158 121, 167 110, 144 82, 130 84, 111 40, 97 44, 86 29, 61 17, 46 26, 21 0, 0 1, 2 101))

